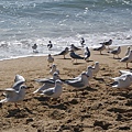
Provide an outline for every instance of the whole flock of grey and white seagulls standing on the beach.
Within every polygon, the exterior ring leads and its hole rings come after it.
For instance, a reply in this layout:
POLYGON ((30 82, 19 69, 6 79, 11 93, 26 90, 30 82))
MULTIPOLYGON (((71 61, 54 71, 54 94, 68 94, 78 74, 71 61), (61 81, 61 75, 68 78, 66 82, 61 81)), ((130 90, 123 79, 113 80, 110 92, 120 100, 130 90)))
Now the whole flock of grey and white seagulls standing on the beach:
MULTIPOLYGON (((85 45, 85 40, 81 38, 81 45, 85 45)), ((100 54, 101 52, 108 46, 112 44, 112 40, 109 40, 108 42, 101 43, 101 46, 98 48, 94 48, 94 51, 99 51, 100 54)), ((33 45, 33 50, 36 50, 37 46, 33 45)), ((70 48, 66 47, 64 51, 56 55, 63 55, 64 59, 66 58, 66 55, 69 53, 69 56, 72 59, 89 59, 90 57, 90 50, 86 46, 84 51, 84 56, 80 56, 76 53, 76 51, 80 51, 81 48, 76 47, 74 44, 70 45, 70 48)), ((118 46, 117 48, 112 50, 109 52, 110 54, 113 54, 118 56, 121 53, 121 47, 118 46)), ((128 51, 124 55, 123 58, 120 59, 121 63, 127 63, 128 64, 132 62, 132 50, 128 47, 128 51)), ((100 70, 100 64, 99 62, 95 62, 95 65, 91 66, 89 65, 87 67, 86 72, 81 72, 80 75, 74 78, 68 78, 68 79, 62 79, 59 75, 59 69, 57 69, 57 65, 54 64, 54 57, 48 54, 47 56, 47 63, 48 66, 51 67, 50 74, 53 76, 52 78, 38 78, 34 79, 34 82, 37 82, 41 85, 40 88, 37 88, 33 94, 40 94, 44 95, 51 98, 58 98, 63 94, 63 85, 72 86, 76 90, 78 89, 85 89, 90 86, 90 79, 96 77, 98 72, 100 70)), ((110 84, 111 87, 113 88, 128 88, 132 85, 132 73, 127 72, 127 70, 120 70, 121 76, 110 78, 113 80, 112 84, 110 84)), ((0 103, 3 102, 14 102, 15 107, 16 102, 22 101, 25 97, 25 89, 28 89, 28 86, 24 84, 25 78, 21 75, 16 75, 14 77, 14 84, 12 85, 11 88, 7 89, 0 89, 0 91, 3 92, 4 99, 0 101, 0 103)))

